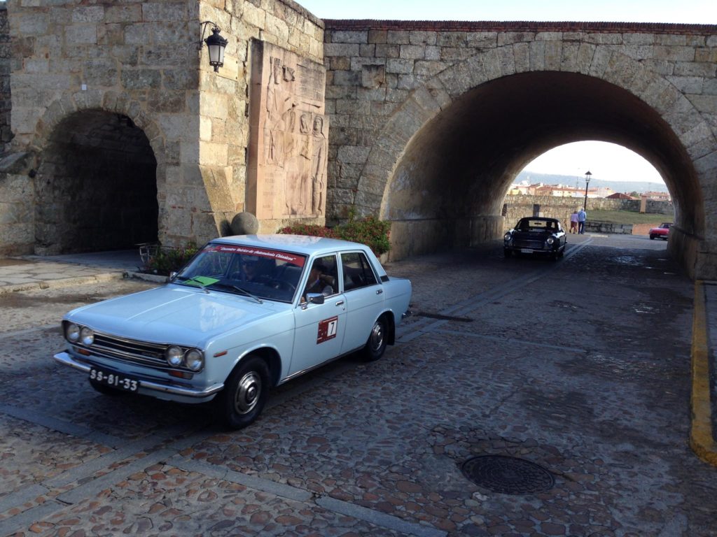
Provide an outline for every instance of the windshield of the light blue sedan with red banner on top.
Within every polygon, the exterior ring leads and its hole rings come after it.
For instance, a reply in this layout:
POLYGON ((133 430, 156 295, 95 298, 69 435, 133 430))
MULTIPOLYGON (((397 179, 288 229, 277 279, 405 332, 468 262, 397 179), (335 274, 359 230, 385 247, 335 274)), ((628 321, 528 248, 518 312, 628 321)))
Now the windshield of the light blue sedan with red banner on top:
POLYGON ((306 257, 270 248, 209 243, 172 282, 252 299, 291 302, 306 257))

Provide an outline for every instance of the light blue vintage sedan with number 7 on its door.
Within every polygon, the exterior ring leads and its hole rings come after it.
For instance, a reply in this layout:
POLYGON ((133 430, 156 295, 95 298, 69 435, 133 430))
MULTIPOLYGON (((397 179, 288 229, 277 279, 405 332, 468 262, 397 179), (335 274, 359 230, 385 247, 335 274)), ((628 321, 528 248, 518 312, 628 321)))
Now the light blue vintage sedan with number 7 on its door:
POLYGON ((95 390, 213 400, 252 423, 270 387, 360 351, 379 359, 409 314, 411 282, 371 249, 328 238, 217 238, 165 286, 70 311, 55 355, 95 390))

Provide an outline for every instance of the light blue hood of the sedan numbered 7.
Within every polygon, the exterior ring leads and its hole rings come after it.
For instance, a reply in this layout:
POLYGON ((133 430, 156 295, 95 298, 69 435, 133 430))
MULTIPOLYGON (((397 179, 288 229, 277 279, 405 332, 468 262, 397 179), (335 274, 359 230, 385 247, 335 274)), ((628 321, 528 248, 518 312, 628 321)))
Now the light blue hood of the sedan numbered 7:
POLYGON ((65 319, 128 339, 194 346, 290 307, 280 302, 259 304, 250 297, 169 284, 83 306, 70 311, 65 319))

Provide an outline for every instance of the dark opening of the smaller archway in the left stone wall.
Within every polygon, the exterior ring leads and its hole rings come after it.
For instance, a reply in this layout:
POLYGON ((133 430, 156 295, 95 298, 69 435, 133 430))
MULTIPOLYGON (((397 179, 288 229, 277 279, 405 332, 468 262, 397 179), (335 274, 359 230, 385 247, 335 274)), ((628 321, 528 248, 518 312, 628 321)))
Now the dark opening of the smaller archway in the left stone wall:
POLYGON ((127 115, 72 112, 51 127, 35 184, 35 253, 135 248, 158 238, 157 160, 127 115))

